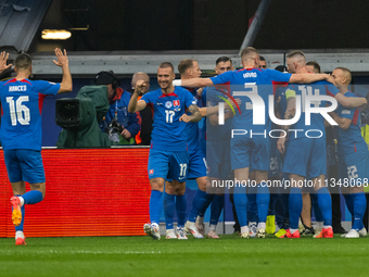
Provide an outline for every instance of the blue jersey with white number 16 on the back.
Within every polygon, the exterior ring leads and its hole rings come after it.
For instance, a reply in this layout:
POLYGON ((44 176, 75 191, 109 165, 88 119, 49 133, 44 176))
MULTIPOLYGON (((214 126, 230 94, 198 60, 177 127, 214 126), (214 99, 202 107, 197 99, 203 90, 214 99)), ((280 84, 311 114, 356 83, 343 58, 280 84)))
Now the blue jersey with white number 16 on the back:
POLYGON ((41 150, 43 99, 56 95, 60 84, 15 78, 0 83, 1 144, 4 150, 41 150))

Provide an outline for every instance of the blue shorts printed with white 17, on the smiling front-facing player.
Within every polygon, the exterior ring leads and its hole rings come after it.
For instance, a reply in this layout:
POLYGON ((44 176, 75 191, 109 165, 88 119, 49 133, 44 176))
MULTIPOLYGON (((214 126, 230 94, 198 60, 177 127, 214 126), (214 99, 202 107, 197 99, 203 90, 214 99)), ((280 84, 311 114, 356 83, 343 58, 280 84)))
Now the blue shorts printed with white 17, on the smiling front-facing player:
POLYGON ((180 182, 187 180, 189 154, 187 151, 150 150, 148 175, 149 179, 164 178, 180 182))

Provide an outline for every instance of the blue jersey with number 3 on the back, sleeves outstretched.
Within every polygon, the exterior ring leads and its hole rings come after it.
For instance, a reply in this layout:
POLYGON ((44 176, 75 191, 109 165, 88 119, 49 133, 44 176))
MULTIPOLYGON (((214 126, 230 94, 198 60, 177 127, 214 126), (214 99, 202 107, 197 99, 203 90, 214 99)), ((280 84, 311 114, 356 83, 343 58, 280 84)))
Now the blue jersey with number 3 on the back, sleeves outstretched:
POLYGON ((271 128, 268 106, 269 96, 273 95, 273 85, 289 83, 290 78, 291 74, 275 70, 244 68, 236 72, 225 72, 211 79, 214 85, 229 84, 233 98, 241 99, 241 114, 233 117, 233 128, 264 133, 271 128), (247 96, 240 96, 240 93, 247 93, 247 96), (252 98, 254 98, 253 101, 251 101, 252 98), (257 112, 263 105, 265 121, 264 123, 254 124, 259 118, 253 118, 253 110, 257 112))

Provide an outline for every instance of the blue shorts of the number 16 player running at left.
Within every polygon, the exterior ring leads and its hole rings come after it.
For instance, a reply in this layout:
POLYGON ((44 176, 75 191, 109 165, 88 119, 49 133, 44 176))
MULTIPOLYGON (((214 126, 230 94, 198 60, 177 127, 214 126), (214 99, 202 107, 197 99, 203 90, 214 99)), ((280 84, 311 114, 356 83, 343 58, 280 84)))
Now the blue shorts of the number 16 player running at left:
POLYGON ((4 150, 9 180, 29 184, 44 182, 41 151, 27 149, 4 150))

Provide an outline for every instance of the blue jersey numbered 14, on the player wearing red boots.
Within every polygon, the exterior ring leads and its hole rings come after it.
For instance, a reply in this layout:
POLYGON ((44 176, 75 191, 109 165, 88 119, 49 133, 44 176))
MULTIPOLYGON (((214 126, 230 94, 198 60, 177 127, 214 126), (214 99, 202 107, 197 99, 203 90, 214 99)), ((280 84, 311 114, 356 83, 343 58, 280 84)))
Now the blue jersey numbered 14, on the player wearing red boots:
MULTIPOLYGON (((308 136, 311 137, 318 137, 320 136, 320 130, 322 136, 321 138, 326 138, 326 127, 325 127, 325 117, 322 117, 321 114, 318 113, 311 113, 310 114, 310 125, 306 125, 305 123, 305 97, 306 96, 331 96, 335 97, 336 93, 339 93, 339 89, 327 80, 319 80, 311 83, 309 85, 300 85, 300 84, 290 84, 288 86, 288 89, 294 90, 296 96, 301 96, 301 117, 300 119, 291 126, 290 128, 290 136, 289 139, 298 139, 306 137, 306 131, 311 130, 311 133, 308 133, 308 136), (297 131, 293 131, 297 130, 297 131)), ((284 96, 285 98, 285 96, 284 96)), ((284 101, 284 100, 283 100, 284 101)), ((329 102, 328 102, 329 103, 329 102)), ((310 106, 311 108, 325 108, 327 104, 327 101, 311 101, 310 106)), ((285 104, 287 108, 287 104, 285 104)))

